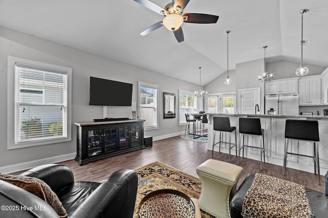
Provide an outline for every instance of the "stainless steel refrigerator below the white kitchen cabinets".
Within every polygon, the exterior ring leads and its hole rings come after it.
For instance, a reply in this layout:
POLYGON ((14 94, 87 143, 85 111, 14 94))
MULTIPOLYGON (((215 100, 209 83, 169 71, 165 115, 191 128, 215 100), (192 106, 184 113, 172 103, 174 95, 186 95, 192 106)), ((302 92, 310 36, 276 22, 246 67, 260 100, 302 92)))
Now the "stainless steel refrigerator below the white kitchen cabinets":
POLYGON ((265 114, 298 115, 298 94, 266 95, 265 114))

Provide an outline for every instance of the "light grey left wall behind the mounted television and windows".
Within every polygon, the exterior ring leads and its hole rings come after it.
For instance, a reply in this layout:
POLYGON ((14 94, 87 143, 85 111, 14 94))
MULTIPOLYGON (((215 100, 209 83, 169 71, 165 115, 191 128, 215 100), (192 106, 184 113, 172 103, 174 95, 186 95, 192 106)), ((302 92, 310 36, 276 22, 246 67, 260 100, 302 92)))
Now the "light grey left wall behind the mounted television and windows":
MULTIPOLYGON (((76 152, 76 127, 75 122, 92 121, 94 118, 103 118, 103 106, 89 105, 90 76, 111 79, 116 81, 133 83, 132 101, 138 102, 138 81, 159 85, 159 129, 145 132, 145 135, 153 137, 165 137, 177 134, 184 130, 184 126, 178 125, 178 117, 175 119, 163 119, 163 92, 176 94, 178 90, 194 92, 197 84, 178 80, 162 74, 131 66, 127 63, 97 56, 91 53, 73 49, 58 43, 44 40, 38 37, 20 33, 0 26, 0 172, 4 173, 4 166, 25 168, 35 163, 35 160, 43 160, 43 163, 51 161, 52 157, 65 159, 74 157, 76 152), (7 56, 15 56, 40 62, 56 64, 72 68, 72 141, 66 143, 35 146, 7 150, 7 56), (169 127, 172 126, 170 130, 169 127), (69 154, 69 155, 68 155, 69 154), (67 156, 68 155, 68 156, 67 156), (23 164, 24 165, 24 164, 23 164)), ((187 75, 186 75, 187 76, 187 75)), ((116 93, 113 93, 116 94, 116 93)), ((176 110, 178 99, 176 101, 176 110)), ((199 103, 200 109, 203 107, 199 103)), ((132 107, 108 106, 107 117, 132 118, 132 107)), ((138 113, 138 112, 137 112, 138 113)), ((178 115, 178 113, 177 113, 178 115)))

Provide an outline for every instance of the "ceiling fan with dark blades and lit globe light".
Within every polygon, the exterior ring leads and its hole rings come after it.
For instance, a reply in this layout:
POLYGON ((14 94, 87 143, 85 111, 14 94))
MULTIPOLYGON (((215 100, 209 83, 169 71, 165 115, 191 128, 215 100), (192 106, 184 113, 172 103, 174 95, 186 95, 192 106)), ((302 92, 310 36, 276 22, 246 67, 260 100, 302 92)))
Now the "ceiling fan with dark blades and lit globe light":
POLYGON ((189 3, 189 0, 175 0, 175 2, 172 0, 172 3, 167 4, 165 9, 149 0, 134 1, 158 14, 164 15, 163 20, 141 32, 140 35, 142 36, 148 35, 154 30, 165 26, 168 30, 173 31, 176 40, 181 42, 184 40, 181 28, 183 22, 194 24, 215 24, 219 18, 219 16, 211 14, 186 13, 181 15, 183 9, 185 9, 189 3))

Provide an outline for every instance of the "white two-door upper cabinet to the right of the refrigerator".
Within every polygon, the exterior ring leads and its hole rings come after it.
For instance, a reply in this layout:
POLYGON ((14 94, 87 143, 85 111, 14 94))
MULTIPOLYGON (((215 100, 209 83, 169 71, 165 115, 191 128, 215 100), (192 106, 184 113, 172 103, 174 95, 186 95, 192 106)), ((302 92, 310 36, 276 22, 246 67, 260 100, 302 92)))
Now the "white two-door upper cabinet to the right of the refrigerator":
POLYGON ((321 78, 302 77, 299 79, 299 105, 321 104, 321 78))

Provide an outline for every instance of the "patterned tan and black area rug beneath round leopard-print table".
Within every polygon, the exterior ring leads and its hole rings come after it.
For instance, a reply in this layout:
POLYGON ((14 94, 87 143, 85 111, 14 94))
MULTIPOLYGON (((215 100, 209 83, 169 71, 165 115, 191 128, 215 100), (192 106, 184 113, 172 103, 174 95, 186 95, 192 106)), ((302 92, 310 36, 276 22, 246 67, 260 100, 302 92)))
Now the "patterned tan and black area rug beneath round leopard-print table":
MULTIPOLYGON (((133 217, 137 218, 139 202, 150 192, 174 189, 198 199, 201 192, 200 179, 161 162, 153 162, 135 169, 138 173, 138 191, 133 217)), ((201 211, 202 218, 213 217, 201 211)), ((154 217, 155 218, 155 217, 154 217)))

